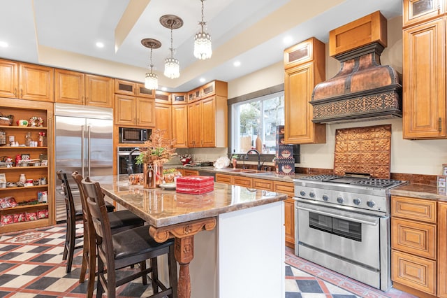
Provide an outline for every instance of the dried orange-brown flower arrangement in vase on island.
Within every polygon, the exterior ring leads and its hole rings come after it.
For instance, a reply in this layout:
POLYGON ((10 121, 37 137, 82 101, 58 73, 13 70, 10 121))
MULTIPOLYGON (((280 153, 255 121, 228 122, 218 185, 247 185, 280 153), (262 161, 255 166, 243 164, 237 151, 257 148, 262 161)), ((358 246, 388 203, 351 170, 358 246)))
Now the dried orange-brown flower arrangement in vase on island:
POLYGON ((155 129, 149 140, 140 148, 140 155, 136 158, 136 164, 156 164, 163 165, 165 162, 177 155, 173 145, 175 140, 165 139, 165 130, 155 129))

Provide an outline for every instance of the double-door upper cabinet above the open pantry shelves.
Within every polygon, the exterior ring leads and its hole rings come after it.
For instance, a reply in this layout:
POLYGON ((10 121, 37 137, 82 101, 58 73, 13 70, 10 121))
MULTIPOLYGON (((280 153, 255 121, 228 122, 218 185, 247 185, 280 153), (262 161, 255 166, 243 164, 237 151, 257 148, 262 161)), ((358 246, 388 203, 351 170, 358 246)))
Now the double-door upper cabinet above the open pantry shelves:
POLYGON ((0 97, 54 101, 53 69, 0 59, 0 97))

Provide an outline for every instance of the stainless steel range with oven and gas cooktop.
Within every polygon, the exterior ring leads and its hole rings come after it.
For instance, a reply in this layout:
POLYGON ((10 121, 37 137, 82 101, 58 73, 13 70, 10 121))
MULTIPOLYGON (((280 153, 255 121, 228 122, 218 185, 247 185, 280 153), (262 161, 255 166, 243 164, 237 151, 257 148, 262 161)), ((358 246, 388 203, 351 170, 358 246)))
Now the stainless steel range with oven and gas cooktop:
POLYGON ((294 179, 295 254, 388 290, 389 190, 401 180, 318 175, 294 179))

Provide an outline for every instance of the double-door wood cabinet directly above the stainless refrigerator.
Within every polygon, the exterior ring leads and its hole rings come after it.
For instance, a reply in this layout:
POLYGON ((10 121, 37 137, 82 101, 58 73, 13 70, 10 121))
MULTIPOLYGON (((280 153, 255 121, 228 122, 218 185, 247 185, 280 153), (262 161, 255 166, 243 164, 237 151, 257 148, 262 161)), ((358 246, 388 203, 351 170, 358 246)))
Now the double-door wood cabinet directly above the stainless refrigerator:
POLYGON ((113 107, 113 79, 65 69, 54 70, 54 101, 113 107))

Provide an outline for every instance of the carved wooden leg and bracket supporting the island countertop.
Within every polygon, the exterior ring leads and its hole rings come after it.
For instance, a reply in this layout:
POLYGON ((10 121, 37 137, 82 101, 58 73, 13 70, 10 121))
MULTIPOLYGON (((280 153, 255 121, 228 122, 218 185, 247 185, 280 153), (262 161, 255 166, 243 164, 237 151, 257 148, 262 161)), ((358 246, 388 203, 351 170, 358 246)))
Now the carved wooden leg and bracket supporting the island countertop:
POLYGON ((175 238, 175 260, 179 263, 177 295, 179 298, 191 297, 191 277, 189 263, 194 258, 194 235, 200 231, 211 231, 216 227, 216 218, 193 220, 168 227, 149 227, 149 234, 157 242, 175 238))

